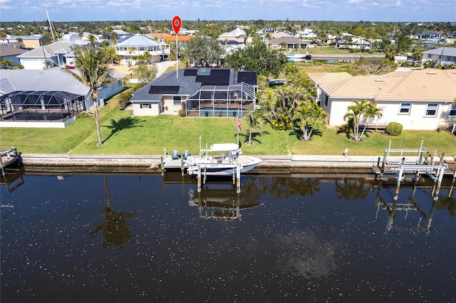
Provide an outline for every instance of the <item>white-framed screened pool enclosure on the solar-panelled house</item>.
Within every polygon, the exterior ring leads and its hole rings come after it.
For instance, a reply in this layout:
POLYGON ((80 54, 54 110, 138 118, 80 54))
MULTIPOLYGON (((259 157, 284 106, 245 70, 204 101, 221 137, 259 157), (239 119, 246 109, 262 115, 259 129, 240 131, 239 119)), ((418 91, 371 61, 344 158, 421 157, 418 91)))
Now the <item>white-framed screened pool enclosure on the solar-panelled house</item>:
POLYGON ((187 97, 187 117, 236 117, 255 109, 252 85, 204 85, 187 97))

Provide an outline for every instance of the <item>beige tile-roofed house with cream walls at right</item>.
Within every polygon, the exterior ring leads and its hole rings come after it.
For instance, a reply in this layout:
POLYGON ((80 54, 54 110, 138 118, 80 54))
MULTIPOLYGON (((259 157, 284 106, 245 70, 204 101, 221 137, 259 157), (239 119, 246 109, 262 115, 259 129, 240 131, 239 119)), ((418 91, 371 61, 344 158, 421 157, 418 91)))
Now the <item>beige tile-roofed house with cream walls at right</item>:
POLYGON ((383 117, 368 121, 372 124, 398 122, 404 129, 446 129, 456 124, 456 70, 427 68, 356 77, 316 73, 309 78, 318 87, 331 126, 346 123, 343 116, 353 100, 368 100, 383 109, 383 117))

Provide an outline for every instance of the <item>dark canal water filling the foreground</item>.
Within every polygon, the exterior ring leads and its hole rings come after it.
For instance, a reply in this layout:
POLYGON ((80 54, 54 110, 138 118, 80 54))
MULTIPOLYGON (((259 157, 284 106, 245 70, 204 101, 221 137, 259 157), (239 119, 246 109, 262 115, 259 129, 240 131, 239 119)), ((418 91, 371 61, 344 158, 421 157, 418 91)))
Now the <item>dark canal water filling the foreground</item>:
POLYGON ((444 179, 30 174, 2 179, 1 302, 454 302, 444 179))

